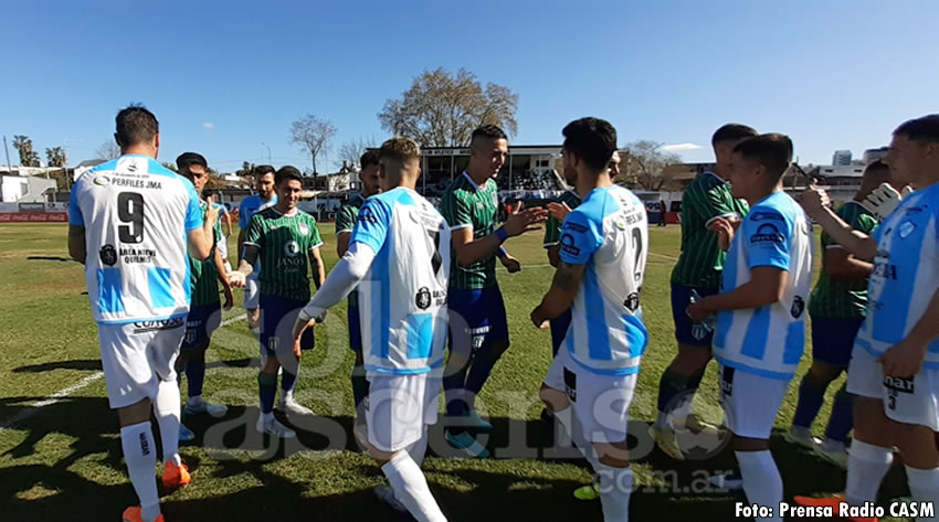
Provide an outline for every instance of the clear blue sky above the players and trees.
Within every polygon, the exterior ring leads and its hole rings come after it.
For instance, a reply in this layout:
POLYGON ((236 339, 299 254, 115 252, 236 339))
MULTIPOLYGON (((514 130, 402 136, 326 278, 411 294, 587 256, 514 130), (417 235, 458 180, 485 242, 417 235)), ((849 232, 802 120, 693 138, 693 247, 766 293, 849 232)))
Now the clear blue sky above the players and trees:
POLYGON ((437 66, 514 89, 515 143, 558 143, 591 115, 621 145, 705 146, 687 161, 709 160, 728 121, 787 132, 801 162, 823 163, 939 111, 932 0, 238 3, 0 0, 0 134, 64 145, 74 164, 143 102, 163 161, 197 150, 231 171, 265 161, 264 142, 308 168, 293 120, 336 125, 335 163, 346 140, 384 139, 384 100, 437 66))

